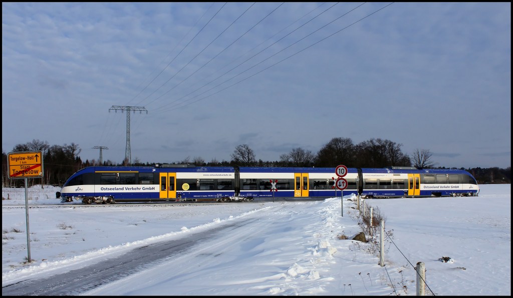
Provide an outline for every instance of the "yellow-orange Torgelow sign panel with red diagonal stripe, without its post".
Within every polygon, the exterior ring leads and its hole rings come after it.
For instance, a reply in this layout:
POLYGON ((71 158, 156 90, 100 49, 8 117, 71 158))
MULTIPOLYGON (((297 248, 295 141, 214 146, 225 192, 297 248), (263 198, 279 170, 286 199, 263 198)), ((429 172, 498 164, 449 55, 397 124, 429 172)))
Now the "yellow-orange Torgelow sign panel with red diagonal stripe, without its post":
POLYGON ((7 156, 9 178, 43 178, 43 153, 16 152, 7 156))

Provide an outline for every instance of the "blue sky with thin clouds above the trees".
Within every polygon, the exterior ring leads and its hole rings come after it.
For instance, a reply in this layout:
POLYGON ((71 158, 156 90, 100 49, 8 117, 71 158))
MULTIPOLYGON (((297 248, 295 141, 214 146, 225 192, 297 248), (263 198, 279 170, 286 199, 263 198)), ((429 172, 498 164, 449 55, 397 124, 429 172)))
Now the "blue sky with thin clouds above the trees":
POLYGON ((380 138, 506 168, 510 99, 510 3, 2 3, 5 153, 121 163, 128 131, 132 161, 276 161, 380 138))

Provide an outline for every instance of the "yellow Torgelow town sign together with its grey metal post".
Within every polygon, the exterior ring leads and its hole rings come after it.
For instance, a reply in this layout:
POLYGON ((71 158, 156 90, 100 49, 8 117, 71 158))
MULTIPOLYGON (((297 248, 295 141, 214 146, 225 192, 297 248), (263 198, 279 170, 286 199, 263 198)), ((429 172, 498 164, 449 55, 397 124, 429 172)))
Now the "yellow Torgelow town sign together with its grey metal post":
MULTIPOLYGON (((30 230, 29 230, 29 198, 28 198, 28 180, 27 178, 43 178, 43 153, 35 152, 15 152, 7 156, 7 166, 9 179, 24 179, 25 181, 25 220, 27 223, 27 262, 30 258, 30 230)), ((43 182, 42 182, 43 183, 43 182)))

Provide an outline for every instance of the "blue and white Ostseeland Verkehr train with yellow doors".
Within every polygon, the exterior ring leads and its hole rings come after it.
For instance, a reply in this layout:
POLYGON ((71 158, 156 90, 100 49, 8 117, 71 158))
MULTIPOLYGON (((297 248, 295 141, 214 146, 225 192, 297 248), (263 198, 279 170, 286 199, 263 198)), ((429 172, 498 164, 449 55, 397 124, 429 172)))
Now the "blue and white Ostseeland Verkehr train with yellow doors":
POLYGON ((351 194, 363 198, 479 195, 476 179, 461 169, 345 169, 344 185, 340 187, 338 167, 88 166, 74 173, 56 197, 62 198, 63 203, 81 200, 84 204, 112 204, 315 200, 351 194))

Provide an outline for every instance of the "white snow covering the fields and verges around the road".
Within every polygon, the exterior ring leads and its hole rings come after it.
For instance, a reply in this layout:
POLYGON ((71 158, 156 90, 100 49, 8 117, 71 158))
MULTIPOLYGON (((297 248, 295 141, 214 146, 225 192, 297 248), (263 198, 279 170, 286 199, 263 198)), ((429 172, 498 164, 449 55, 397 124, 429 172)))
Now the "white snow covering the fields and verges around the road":
POLYGON ((343 205, 338 197, 86 206, 60 204, 60 189, 41 185, 27 193, 27 263, 25 188, 2 188, 2 286, 212 230, 215 241, 80 294, 416 295, 423 262, 426 294, 511 295, 511 185, 479 186, 479 197, 365 200, 384 218, 385 266, 379 230, 367 243, 351 240, 362 231, 353 195, 343 205))

